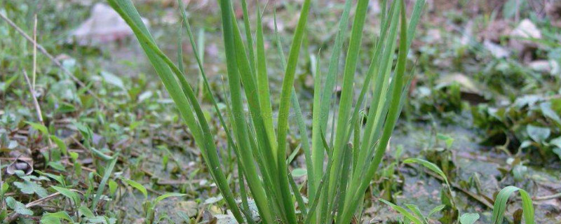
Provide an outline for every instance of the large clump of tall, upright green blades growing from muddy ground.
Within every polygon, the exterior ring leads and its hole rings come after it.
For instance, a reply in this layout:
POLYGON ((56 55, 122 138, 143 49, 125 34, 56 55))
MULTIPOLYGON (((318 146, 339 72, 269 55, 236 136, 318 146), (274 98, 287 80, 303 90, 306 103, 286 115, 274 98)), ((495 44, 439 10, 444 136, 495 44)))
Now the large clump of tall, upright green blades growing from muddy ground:
MULTIPOLYGON (((241 188, 242 203, 239 206, 222 171, 217 153, 219 148, 215 144, 201 104, 185 78, 182 52, 178 54, 179 63, 175 64, 169 59, 156 45, 130 0, 109 0, 109 3, 135 32, 140 45, 193 134, 196 145, 201 149, 203 160, 232 214, 239 223, 255 223, 248 211, 245 188, 241 188)), ((179 3, 181 6, 182 2, 179 3)), ((230 96, 229 101, 225 102, 229 119, 222 117, 222 111, 219 111, 213 97, 211 102, 222 128, 227 133, 227 141, 236 153, 238 169, 241 170, 241 183, 247 182, 250 196, 255 200, 263 223, 351 223, 353 215, 357 214, 361 207, 365 190, 383 158, 410 83, 411 73, 405 71, 407 52, 424 0, 415 1, 409 20, 403 0, 381 1, 383 10, 380 15, 379 36, 372 49, 374 53, 369 69, 367 73, 362 74, 363 77, 358 82, 356 70, 359 66, 359 55, 369 52, 362 49, 361 45, 368 4, 368 0, 356 2, 349 47, 346 49, 342 70, 341 99, 335 106, 332 102, 332 90, 339 73, 339 57, 342 55, 349 26, 349 12, 353 5, 351 0, 346 0, 344 5, 339 31, 328 62, 325 83, 321 83, 324 78, 320 73, 320 63, 317 63, 313 124, 309 139, 309 130, 304 125, 293 84, 297 62, 302 59, 299 52, 311 10, 311 0, 304 0, 286 62, 282 50, 278 52, 283 58, 285 72, 276 74, 284 75, 280 97, 273 99, 280 104, 276 120, 273 119, 271 109, 261 9, 257 7, 254 45, 245 0, 241 0, 241 6, 246 41, 243 41, 242 31, 234 18, 232 2, 219 0, 230 96), (394 59, 396 47, 398 57, 394 59), (358 96, 355 96, 356 87, 360 88, 358 96), (249 116, 245 115, 245 105, 249 116), (309 199, 307 204, 304 203, 287 165, 286 139, 291 106, 295 110, 298 130, 302 137, 302 149, 306 156, 309 199), (367 116, 359 116, 360 111, 365 108, 370 108, 367 116), (330 110, 337 111, 337 116, 333 118, 333 134, 327 138, 325 133, 330 110), (367 119, 364 120, 365 118, 367 119), (362 125, 363 123, 365 125, 362 125), (326 159, 327 166, 324 165, 326 159), (298 204, 298 209, 295 204, 298 204)), ((183 26, 187 29, 194 49, 192 56, 198 62, 205 89, 212 92, 183 6, 181 9, 183 26)), ((278 46, 280 47, 280 44, 278 46)))

